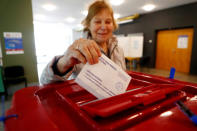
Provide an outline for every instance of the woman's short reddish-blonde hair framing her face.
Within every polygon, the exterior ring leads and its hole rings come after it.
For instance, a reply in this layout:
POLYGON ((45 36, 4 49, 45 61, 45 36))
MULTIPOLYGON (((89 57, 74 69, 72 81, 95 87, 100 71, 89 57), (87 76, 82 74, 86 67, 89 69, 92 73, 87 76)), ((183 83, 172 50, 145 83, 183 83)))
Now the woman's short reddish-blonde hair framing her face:
POLYGON ((95 2, 93 2, 89 6, 88 14, 87 14, 86 18, 82 21, 82 24, 84 26, 84 31, 88 31, 88 33, 90 33, 90 31, 88 29, 88 27, 90 26, 90 21, 92 20, 92 18, 95 15, 97 15, 103 9, 109 10, 111 17, 112 17, 114 30, 116 30, 118 28, 118 25, 114 19, 114 13, 113 13, 113 9, 112 9, 111 5, 106 0, 96 0, 95 2))

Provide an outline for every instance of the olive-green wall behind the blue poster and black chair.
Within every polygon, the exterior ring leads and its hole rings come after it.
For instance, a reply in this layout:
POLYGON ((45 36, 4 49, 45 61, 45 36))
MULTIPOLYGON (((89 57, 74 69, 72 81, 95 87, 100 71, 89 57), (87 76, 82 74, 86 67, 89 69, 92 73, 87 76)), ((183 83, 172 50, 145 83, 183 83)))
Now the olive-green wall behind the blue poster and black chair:
POLYGON ((0 0, 0 39, 3 67, 22 65, 28 83, 37 83, 37 64, 31 0, 0 0), (24 54, 6 55, 3 32, 22 32, 24 54))

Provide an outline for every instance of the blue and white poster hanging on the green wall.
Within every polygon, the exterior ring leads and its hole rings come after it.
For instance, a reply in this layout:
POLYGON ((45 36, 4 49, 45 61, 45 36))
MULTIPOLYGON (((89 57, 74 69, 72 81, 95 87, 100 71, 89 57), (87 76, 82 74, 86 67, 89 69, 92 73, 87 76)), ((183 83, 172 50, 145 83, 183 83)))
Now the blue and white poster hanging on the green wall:
POLYGON ((4 32, 6 54, 24 54, 22 33, 4 32))

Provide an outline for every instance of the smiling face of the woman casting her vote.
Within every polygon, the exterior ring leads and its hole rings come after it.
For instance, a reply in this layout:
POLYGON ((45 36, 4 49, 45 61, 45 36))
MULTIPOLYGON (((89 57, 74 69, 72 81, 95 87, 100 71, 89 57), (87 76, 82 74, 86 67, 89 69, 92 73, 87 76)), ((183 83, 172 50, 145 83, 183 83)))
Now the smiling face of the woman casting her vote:
POLYGON ((98 44, 107 42, 114 30, 110 12, 107 9, 103 9, 96 14, 90 21, 89 30, 93 40, 98 44))

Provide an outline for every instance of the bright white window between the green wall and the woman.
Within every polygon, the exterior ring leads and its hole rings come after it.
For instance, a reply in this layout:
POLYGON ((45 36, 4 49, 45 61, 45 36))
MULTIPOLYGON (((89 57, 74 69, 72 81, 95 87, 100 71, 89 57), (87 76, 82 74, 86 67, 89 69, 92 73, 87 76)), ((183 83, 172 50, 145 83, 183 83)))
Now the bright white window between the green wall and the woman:
POLYGON ((62 55, 72 43, 72 28, 60 23, 34 22, 38 76, 56 55, 62 55))

